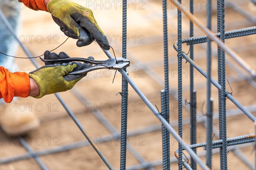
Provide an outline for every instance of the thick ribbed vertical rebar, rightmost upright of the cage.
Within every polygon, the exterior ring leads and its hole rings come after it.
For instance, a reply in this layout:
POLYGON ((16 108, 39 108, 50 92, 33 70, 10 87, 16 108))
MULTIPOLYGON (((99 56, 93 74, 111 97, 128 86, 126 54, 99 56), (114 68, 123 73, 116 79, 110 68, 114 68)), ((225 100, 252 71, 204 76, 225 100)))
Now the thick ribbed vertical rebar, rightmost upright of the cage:
MULTIPOLYGON (((220 39, 225 41, 225 20, 224 20, 224 0, 217 1, 217 23, 220 39)), ((226 77, 225 77, 225 52, 218 47, 218 82, 221 90, 218 91, 219 99, 219 133, 222 139, 222 147, 220 148, 221 169, 227 170, 227 120, 226 120, 226 77)))

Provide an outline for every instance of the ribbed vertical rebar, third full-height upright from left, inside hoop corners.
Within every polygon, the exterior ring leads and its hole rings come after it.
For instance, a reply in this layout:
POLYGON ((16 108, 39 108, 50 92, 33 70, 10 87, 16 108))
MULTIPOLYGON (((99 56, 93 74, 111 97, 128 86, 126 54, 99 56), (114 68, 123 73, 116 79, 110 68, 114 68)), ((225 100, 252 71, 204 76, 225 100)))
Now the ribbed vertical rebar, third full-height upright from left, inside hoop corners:
MULTIPOLYGON (((181 0, 178 0, 181 4, 181 0)), ((182 28, 181 28, 181 11, 177 10, 178 20, 178 134, 182 138, 182 28)), ((179 170, 182 170, 182 145, 179 144, 179 170)))

